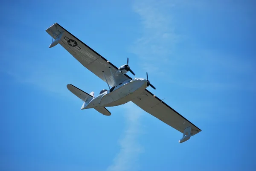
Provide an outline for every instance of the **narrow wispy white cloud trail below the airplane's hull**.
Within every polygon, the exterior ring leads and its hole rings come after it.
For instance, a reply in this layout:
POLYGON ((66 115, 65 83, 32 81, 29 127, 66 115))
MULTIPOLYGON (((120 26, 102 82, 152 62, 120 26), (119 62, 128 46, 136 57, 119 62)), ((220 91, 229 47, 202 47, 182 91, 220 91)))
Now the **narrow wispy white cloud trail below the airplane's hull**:
POLYGON ((137 106, 132 102, 128 102, 124 107, 126 110, 126 128, 123 137, 119 141, 120 151, 107 171, 135 171, 140 167, 137 159, 143 152, 143 147, 138 142, 137 137, 142 133, 140 126, 142 110, 139 108, 134 110, 137 106))

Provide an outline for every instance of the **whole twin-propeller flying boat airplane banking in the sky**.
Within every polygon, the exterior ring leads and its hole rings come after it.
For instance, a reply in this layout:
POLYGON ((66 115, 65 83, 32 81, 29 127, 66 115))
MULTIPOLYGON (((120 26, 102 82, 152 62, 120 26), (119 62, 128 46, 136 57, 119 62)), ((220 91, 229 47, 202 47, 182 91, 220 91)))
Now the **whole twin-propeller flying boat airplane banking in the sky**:
POLYGON ((95 96, 94 92, 88 94, 72 84, 67 84, 67 89, 83 101, 81 110, 94 108, 105 116, 111 116, 106 107, 132 101, 147 113, 183 133, 179 143, 201 132, 201 129, 146 89, 149 86, 156 89, 148 80, 148 73, 146 73, 147 79, 131 78, 126 74, 131 72, 135 75, 128 65, 129 58, 127 58, 127 64, 117 68, 58 23, 49 26, 46 32, 52 36, 49 48, 60 44, 84 67, 108 84, 109 89, 101 90, 98 96, 95 96))

